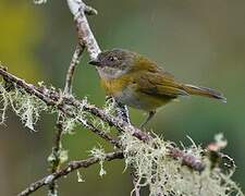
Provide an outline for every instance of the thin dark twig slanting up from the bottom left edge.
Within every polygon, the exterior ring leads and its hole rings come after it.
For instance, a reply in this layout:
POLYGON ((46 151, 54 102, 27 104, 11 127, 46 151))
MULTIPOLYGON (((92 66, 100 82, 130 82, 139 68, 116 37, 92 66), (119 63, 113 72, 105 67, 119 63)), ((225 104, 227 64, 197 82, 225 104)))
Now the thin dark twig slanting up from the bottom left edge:
MULTIPOLYGON (((114 159, 123 159, 122 151, 110 152, 110 154, 105 155, 105 160, 107 160, 107 161, 111 161, 114 159)), ((99 161, 100 161, 100 159, 96 158, 96 157, 91 157, 91 158, 88 158, 85 160, 71 161, 65 168, 63 168, 48 176, 45 176, 41 180, 36 181, 35 183, 32 183, 27 188, 25 188, 23 192, 21 192, 17 196, 29 195, 29 194, 34 193, 35 191, 39 189, 40 187, 48 185, 62 176, 66 176, 68 174, 70 174, 71 172, 73 172, 79 168, 88 168, 99 161)))

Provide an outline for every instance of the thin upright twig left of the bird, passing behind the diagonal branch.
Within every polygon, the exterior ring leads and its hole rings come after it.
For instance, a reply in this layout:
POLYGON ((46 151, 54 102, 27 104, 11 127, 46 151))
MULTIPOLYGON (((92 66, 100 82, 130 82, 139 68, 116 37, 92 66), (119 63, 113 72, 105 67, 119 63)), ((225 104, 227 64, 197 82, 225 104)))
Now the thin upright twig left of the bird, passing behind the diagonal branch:
MULTIPOLYGON (((72 57, 72 61, 70 63, 70 66, 69 66, 68 73, 66 73, 66 79, 65 79, 63 95, 72 94, 72 81, 73 81, 73 76, 74 76, 74 71, 75 71, 76 64, 78 64, 79 57, 82 56, 82 52, 84 51, 85 46, 87 46, 87 48, 88 48, 88 44, 93 44, 94 45, 93 47, 96 47, 98 49, 96 56, 100 52, 97 42, 89 41, 88 40, 89 37, 83 33, 83 30, 85 33, 90 30, 85 14, 89 14, 89 15, 97 14, 97 11, 95 9, 93 9, 91 7, 87 7, 85 3, 83 3, 83 1, 79 2, 77 0, 76 1, 68 0, 68 3, 69 3, 69 7, 72 8, 73 10, 76 9, 76 11, 75 11, 76 20, 75 21, 76 21, 77 25, 82 24, 82 26, 81 26, 82 28, 77 27, 79 44, 76 46, 75 52, 72 57)), ((72 9, 71 9, 71 11, 72 11, 72 9)), ((91 34, 91 32, 90 32, 90 34, 91 34)), ((95 38, 94 38, 94 40, 95 40, 95 38)), ((51 161, 51 171, 52 172, 56 172, 60 164, 60 152, 62 149, 61 138, 62 138, 62 132, 63 132, 63 123, 62 122, 63 122, 63 117, 59 112, 58 119, 57 119, 57 125, 56 125, 57 132, 54 134, 54 146, 52 148, 52 155, 54 157, 54 160, 51 161)), ((50 184, 49 191, 53 195, 54 195, 54 193, 57 193, 57 185, 56 185, 54 181, 53 181, 53 183, 50 184)))

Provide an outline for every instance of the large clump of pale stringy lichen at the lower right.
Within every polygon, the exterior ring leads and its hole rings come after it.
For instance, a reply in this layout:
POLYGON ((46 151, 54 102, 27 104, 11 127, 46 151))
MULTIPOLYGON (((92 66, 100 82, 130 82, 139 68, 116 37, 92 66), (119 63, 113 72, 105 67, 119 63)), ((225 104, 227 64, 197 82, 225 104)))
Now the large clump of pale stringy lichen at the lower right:
MULTIPOLYGON (((231 180, 234 169, 224 172, 220 168, 211 169, 210 160, 204 156, 204 149, 192 145, 185 151, 195 155, 206 163, 203 172, 193 171, 181 160, 169 156, 170 143, 156 136, 144 143, 125 133, 121 136, 126 167, 133 167, 138 181, 136 187, 148 186, 150 196, 226 196, 231 193, 242 196, 238 186, 231 180)), ((135 192, 132 191, 132 195, 135 192)))

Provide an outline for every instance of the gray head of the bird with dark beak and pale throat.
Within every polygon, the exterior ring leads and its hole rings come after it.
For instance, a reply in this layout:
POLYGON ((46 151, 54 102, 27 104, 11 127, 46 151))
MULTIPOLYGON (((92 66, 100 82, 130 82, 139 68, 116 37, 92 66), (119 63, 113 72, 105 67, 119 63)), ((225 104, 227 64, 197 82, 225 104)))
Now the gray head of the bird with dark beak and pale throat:
POLYGON ((89 64, 96 65, 101 77, 117 78, 126 73, 134 62, 136 53, 124 49, 102 51, 89 64))

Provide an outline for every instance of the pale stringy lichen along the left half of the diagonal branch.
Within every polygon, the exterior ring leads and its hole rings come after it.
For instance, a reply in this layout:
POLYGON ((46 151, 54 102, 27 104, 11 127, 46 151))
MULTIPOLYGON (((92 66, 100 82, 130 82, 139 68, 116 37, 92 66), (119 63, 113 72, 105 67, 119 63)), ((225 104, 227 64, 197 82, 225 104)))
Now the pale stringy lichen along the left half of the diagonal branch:
MULTIPOLYGON (((38 86, 40 90, 45 90, 44 94, 46 95, 51 95, 52 93, 57 91, 56 88, 52 86, 47 88, 42 82, 38 83, 38 86)), ((8 106, 10 106, 12 110, 21 118, 24 125, 30 128, 32 131, 35 131, 34 125, 38 121, 41 111, 46 110, 50 113, 57 113, 57 106, 62 105, 64 98, 74 98, 72 95, 69 95, 69 97, 65 96, 66 95, 60 93, 60 98, 57 100, 57 105, 54 107, 48 107, 37 97, 27 94, 22 88, 15 87, 14 84, 1 82, 0 103, 2 105, 2 108, 0 109, 0 124, 4 123, 7 108, 8 106), (11 86, 10 89, 8 89, 9 87, 5 86, 7 84, 11 86)), ((71 115, 61 113, 63 133, 73 133, 73 130, 75 128, 76 124, 81 122, 84 124, 84 126, 88 126, 89 122, 89 124, 93 124, 94 127, 109 133, 110 126, 107 122, 102 121, 97 117, 91 115, 89 112, 84 110, 84 106, 87 105, 87 98, 85 97, 79 102, 81 103, 78 107, 73 107, 69 105, 65 106, 65 110, 68 110, 71 115)), ((106 103, 103 109, 107 113, 110 113, 113 110, 112 106, 109 103, 106 103)))

